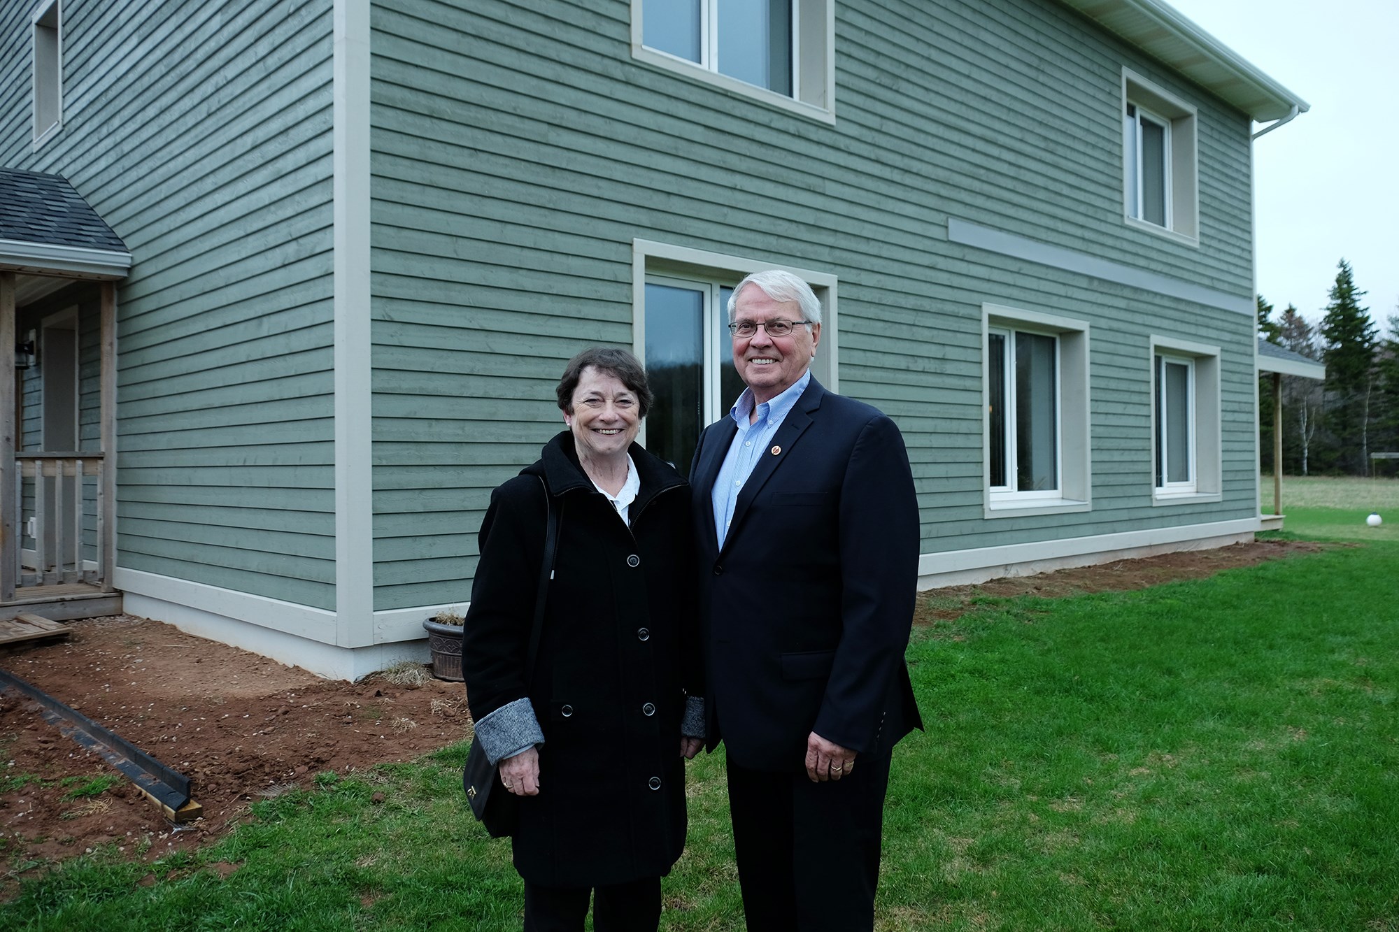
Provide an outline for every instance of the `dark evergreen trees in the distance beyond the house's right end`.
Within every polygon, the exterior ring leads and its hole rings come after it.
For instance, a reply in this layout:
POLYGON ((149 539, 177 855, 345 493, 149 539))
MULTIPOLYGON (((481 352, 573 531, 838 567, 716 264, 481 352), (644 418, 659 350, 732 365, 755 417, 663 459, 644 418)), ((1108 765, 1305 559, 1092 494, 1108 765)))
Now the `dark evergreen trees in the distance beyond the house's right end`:
MULTIPOLYGON (((1295 305, 1274 318, 1258 295, 1258 333, 1326 365, 1326 381, 1283 376, 1283 473, 1364 476, 1370 455, 1399 452, 1399 308, 1384 334, 1360 304, 1350 263, 1337 264, 1326 316, 1308 323, 1295 305)), ((1273 469, 1273 376, 1259 376, 1263 472, 1273 469)), ((1393 474, 1399 462, 1381 465, 1393 474)))

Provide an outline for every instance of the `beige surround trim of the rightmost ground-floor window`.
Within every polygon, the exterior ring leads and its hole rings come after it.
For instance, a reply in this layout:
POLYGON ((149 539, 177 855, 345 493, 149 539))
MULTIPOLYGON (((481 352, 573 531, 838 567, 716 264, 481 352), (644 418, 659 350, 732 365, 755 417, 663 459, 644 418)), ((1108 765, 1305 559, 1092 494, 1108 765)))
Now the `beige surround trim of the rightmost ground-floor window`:
POLYGON ((1220 347, 1193 340, 1179 340, 1170 336, 1151 334, 1149 340, 1147 364, 1150 365, 1150 397, 1147 409, 1151 414, 1151 442, 1149 445, 1149 474, 1151 477, 1153 505, 1191 505, 1223 501, 1223 434, 1220 409, 1220 347), (1158 355, 1172 361, 1188 361, 1191 379, 1191 487, 1158 487, 1156 484, 1156 453, 1160 444, 1161 425, 1156 417, 1158 355))

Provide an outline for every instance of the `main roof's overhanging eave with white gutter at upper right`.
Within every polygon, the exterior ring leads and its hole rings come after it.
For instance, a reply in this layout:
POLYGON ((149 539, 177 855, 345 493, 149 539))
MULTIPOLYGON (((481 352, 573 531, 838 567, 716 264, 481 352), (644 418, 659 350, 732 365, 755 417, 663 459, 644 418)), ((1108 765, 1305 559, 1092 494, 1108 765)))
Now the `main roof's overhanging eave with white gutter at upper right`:
POLYGON ((1161 0, 1062 1, 1213 91, 1259 123, 1311 109, 1311 104, 1161 0))

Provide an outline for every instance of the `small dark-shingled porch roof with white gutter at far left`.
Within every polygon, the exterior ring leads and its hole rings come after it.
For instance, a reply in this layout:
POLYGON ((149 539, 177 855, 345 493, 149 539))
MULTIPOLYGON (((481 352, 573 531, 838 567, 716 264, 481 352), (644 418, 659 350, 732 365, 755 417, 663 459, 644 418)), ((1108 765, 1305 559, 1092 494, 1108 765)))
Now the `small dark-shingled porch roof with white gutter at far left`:
POLYGON ((132 253, 62 175, 0 168, 0 269, 120 278, 132 253))

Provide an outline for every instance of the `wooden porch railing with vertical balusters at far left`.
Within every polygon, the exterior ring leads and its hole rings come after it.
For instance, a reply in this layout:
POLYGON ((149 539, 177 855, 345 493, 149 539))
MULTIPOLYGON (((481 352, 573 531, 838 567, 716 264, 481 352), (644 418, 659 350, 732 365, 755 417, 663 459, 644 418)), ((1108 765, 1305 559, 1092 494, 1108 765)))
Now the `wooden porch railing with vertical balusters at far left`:
POLYGON ((111 546, 102 453, 15 453, 14 459, 18 537, 34 542, 32 550, 17 547, 14 578, 21 586, 102 581, 111 546))

